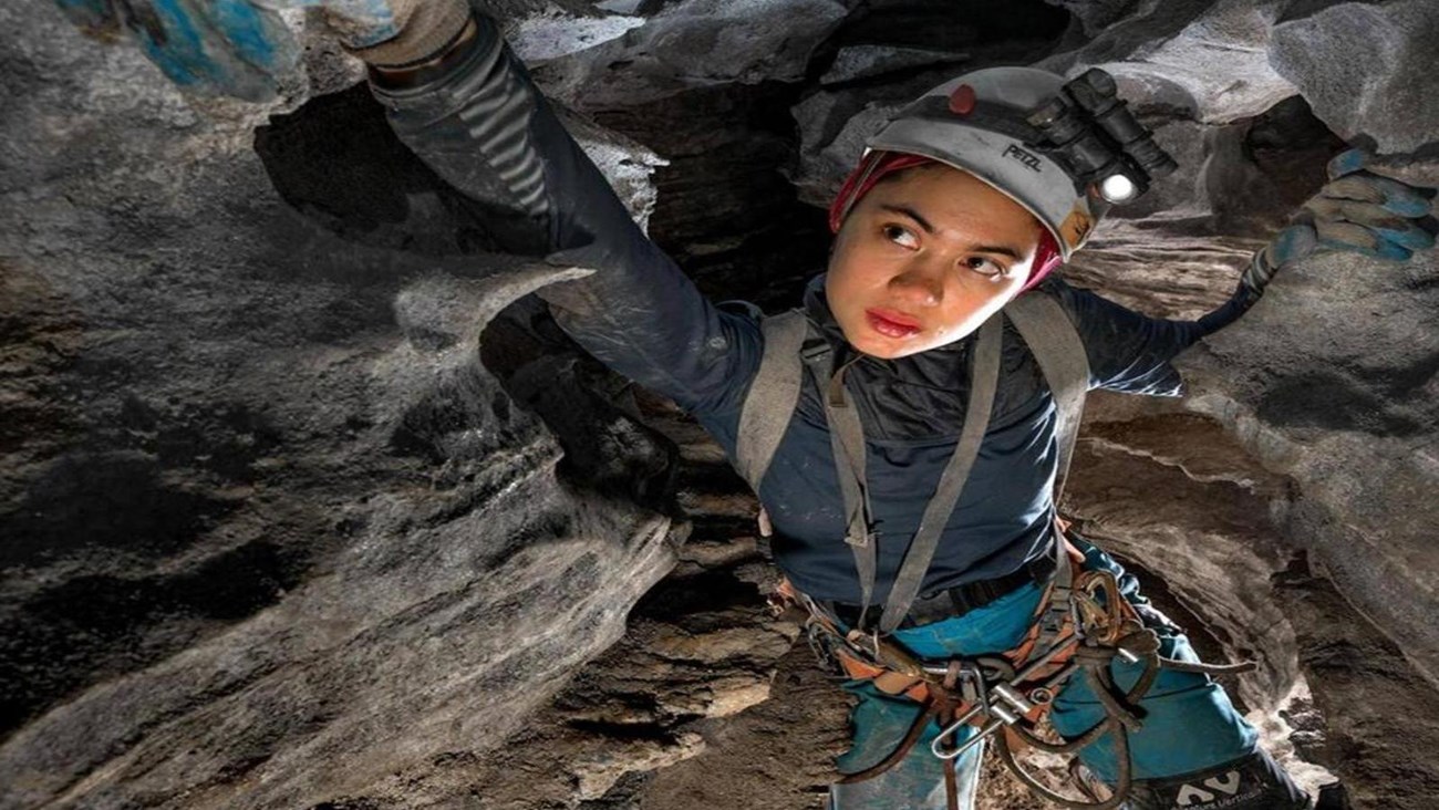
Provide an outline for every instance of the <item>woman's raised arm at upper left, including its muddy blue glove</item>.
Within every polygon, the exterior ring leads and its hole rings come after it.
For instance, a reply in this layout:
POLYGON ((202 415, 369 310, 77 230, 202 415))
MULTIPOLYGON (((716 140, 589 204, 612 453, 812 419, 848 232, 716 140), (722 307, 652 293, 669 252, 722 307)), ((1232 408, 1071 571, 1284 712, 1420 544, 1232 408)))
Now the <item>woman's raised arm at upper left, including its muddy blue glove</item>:
POLYGON ((630 220, 469 0, 58 0, 82 30, 128 35, 189 92, 273 98, 302 47, 282 10, 314 10, 370 66, 399 137, 512 253, 594 272, 543 298, 610 368, 691 410, 722 407, 758 363, 758 324, 707 302, 630 220))

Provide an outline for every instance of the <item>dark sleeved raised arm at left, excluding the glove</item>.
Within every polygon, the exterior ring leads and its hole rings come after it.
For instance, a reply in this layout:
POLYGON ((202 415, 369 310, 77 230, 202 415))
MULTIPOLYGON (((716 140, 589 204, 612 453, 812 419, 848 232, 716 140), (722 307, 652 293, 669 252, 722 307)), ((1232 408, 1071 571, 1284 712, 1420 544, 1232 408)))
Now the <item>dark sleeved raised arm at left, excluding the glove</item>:
POLYGON ((476 204, 504 249, 596 270, 540 292, 590 354, 689 410, 740 396, 758 365, 754 319, 705 301, 645 236, 492 20, 478 17, 463 53, 420 86, 371 82, 400 140, 476 204))

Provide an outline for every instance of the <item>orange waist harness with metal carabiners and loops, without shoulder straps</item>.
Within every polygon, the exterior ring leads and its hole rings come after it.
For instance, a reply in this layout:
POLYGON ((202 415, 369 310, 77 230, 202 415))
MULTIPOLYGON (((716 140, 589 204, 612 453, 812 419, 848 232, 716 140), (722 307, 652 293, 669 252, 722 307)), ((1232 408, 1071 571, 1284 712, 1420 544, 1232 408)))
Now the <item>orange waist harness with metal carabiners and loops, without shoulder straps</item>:
MULTIPOLYGON (((1056 554, 1071 557, 1071 545, 1061 542, 1056 554)), ((1160 639, 1140 620, 1120 591, 1109 571, 1084 570, 1073 573, 1072 561, 1061 563, 1056 583, 1040 600, 1029 634, 1010 652, 996 656, 960 656, 943 663, 924 662, 878 632, 846 629, 820 604, 781 583, 776 604, 793 603, 809 613, 806 629, 810 646, 822 662, 832 662, 852 679, 871 681, 888 695, 904 695, 922 706, 904 740, 882 761, 871 768, 849 774, 840 783, 875 778, 904 760, 930 722, 941 727, 930 750, 945 761, 945 778, 954 807, 954 763, 986 740, 993 741, 1000 761, 1032 793, 1061 807, 1079 810, 1112 810, 1130 796, 1132 774, 1128 735, 1144 722, 1140 701, 1154 685, 1160 669, 1232 675, 1253 669, 1253 663, 1206 665, 1173 660, 1160 656, 1160 639), (1069 570, 1069 571, 1066 571, 1069 570), (1073 577, 1069 588, 1065 620, 1056 633, 1045 630, 1043 617, 1061 610, 1058 601, 1065 575, 1073 577), (1124 691, 1115 683, 1109 665, 1115 659, 1143 663, 1144 669, 1134 686, 1124 691), (1068 741, 1046 740, 1042 724, 1059 691, 1075 675, 1089 679, 1089 686, 1105 709, 1105 719, 1088 732, 1068 741), (966 727, 976 732, 961 740, 966 727), (1112 740, 1118 764, 1109 796, 1101 798, 1078 778, 1072 761, 1071 775, 1088 800, 1062 796, 1030 774, 1014 757, 1016 745, 1030 747, 1058 755, 1075 755, 1104 737, 1112 740)))

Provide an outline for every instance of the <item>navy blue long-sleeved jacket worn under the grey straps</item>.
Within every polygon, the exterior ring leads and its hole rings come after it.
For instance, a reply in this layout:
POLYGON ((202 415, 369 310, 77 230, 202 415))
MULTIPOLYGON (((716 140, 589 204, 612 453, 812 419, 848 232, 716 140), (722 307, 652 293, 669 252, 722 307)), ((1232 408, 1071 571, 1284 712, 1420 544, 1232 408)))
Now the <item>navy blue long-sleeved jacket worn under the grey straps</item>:
MULTIPOLYGON (((443 79, 403 92, 376 89, 396 132, 479 206, 509 211, 504 233, 514 249, 593 268, 587 279, 541 292, 561 327, 614 371, 672 397, 732 458, 740 406, 763 352, 755 314, 701 296, 635 224, 494 29, 476 42, 443 79)), ((804 308, 839 355, 853 352, 822 281, 804 308)), ((1164 396, 1180 390, 1170 360, 1249 304, 1236 295, 1200 321, 1166 321, 1058 279, 1043 289, 1059 298, 1084 338, 1091 387, 1164 396)), ((878 603, 954 450, 973 342, 901 360, 863 357, 846 374, 866 436, 878 603)), ((921 593, 1003 575, 1039 554, 1053 514, 1055 466, 1053 401, 1023 341, 1007 331, 994 414, 921 593)), ((758 495, 777 532, 776 563, 794 586, 816 599, 858 603, 835 459, 807 377, 758 495)))

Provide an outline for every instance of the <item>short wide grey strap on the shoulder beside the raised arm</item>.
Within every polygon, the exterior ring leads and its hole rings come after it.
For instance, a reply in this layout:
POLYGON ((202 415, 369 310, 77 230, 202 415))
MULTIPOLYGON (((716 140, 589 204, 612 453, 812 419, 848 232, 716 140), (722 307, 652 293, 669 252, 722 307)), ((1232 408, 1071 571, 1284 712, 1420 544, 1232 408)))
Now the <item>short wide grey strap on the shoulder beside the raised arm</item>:
POLYGON ((764 334, 764 354, 760 371, 744 396, 734 450, 735 468, 755 495, 760 493, 760 482, 764 481, 800 401, 800 348, 804 345, 809 321, 803 311, 793 309, 764 318, 760 329, 764 334))

